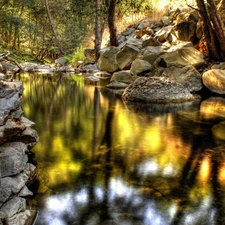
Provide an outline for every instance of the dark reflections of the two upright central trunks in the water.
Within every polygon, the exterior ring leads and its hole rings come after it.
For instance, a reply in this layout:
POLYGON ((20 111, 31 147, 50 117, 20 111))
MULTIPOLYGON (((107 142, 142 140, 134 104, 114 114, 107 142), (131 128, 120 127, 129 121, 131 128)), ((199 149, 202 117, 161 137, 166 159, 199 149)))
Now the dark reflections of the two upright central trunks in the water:
MULTIPOLYGON (((88 207, 85 209, 85 213, 81 215, 81 219, 79 224, 86 224, 87 220, 90 219, 89 216, 93 213, 98 212, 98 215, 100 217, 101 221, 110 219, 110 215, 108 212, 108 194, 109 194, 109 180, 111 178, 111 148, 112 148, 112 121, 113 121, 113 114, 114 109, 112 108, 114 106, 113 102, 109 102, 108 106, 108 113, 107 118, 105 122, 105 134, 102 139, 101 146, 104 146, 105 154, 99 154, 96 151, 96 132, 97 132, 97 125, 98 125, 98 107, 99 107, 99 90, 97 87, 95 87, 94 92, 94 130, 93 130, 93 151, 92 151, 92 159, 90 164, 90 175, 89 175, 89 192, 88 192, 88 207), (101 158, 103 158, 104 163, 101 162, 101 158), (95 185, 96 185, 96 176, 97 176, 97 170, 93 170, 94 166, 98 163, 103 164, 103 170, 104 170, 104 198, 102 202, 96 203, 97 198, 95 197, 94 191, 95 191, 95 185)), ((99 149, 100 147, 99 146, 99 149)))

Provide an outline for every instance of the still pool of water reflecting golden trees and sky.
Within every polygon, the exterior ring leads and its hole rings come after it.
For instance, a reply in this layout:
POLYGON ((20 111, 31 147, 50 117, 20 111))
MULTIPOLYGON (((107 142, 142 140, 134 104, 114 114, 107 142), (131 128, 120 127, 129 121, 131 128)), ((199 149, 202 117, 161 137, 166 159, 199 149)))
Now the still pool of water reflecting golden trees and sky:
POLYGON ((127 104, 82 76, 20 78, 40 140, 36 225, 225 224, 225 99, 127 104))

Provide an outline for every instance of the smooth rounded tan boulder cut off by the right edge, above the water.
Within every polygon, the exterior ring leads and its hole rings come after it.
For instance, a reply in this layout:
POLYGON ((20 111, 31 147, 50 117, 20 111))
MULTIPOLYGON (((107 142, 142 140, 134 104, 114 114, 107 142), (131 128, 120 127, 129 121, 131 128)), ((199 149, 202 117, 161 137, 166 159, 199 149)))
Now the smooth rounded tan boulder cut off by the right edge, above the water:
POLYGON ((202 75, 203 84, 211 92, 217 94, 225 94, 225 71, 212 69, 203 73, 202 75))

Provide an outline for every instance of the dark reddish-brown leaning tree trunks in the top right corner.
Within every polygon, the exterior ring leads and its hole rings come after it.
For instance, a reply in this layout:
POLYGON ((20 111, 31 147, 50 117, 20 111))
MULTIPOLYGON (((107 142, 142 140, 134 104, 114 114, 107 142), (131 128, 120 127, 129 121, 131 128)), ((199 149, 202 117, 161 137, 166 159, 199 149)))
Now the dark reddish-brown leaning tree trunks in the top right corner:
POLYGON ((225 60, 224 26, 213 0, 196 0, 203 21, 203 33, 209 59, 225 60))

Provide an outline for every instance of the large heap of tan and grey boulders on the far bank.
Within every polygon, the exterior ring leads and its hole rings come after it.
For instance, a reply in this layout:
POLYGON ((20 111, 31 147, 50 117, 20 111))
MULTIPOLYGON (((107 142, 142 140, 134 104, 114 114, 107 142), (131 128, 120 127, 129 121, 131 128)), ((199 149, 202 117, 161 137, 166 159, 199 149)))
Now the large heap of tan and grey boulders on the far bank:
POLYGON ((124 100, 192 101, 205 87, 225 94, 222 66, 202 70, 206 62, 199 48, 202 25, 196 10, 176 9, 158 22, 145 19, 118 38, 118 47, 101 50, 97 63, 101 72, 96 75, 111 74, 107 87, 120 89, 124 100))

